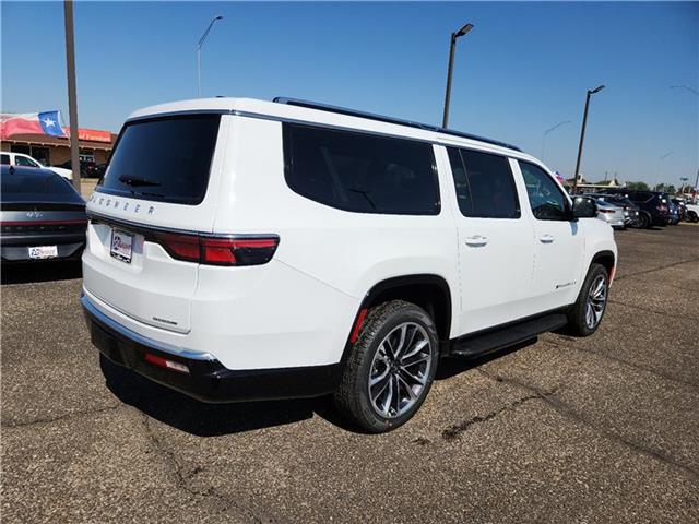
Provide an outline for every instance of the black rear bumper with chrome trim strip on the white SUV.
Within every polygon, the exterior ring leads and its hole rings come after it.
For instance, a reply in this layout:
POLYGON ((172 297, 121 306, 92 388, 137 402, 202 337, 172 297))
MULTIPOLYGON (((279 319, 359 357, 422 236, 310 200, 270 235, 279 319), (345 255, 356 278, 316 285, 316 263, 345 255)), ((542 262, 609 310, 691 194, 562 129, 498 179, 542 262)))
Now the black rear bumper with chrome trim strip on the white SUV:
POLYGON ((333 392, 340 382, 340 364, 230 370, 211 354, 171 348, 123 327, 84 296, 81 302, 92 343, 99 353, 115 364, 203 402, 320 396, 333 392), (145 360, 146 354, 185 365, 189 372, 151 364, 145 360))

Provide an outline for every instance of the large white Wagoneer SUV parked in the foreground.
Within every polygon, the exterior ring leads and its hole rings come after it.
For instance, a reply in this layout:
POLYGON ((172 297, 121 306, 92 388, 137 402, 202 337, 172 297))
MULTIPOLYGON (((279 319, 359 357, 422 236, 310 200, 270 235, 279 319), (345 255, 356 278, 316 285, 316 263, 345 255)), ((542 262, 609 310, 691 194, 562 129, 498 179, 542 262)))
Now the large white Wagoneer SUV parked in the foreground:
POLYGON ((594 202, 517 147, 293 99, 134 112, 87 210, 106 357, 209 402, 333 393, 375 432, 440 357, 592 334, 617 261, 594 202))

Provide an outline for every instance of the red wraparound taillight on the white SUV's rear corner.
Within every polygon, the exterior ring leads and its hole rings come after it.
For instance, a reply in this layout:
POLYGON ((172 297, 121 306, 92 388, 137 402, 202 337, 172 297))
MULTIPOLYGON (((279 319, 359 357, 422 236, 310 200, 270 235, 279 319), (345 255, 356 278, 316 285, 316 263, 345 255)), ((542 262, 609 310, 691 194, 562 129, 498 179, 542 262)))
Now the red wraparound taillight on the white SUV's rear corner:
POLYGON ((210 265, 265 264, 280 243, 277 236, 218 237, 154 233, 146 240, 163 246, 170 257, 210 265))

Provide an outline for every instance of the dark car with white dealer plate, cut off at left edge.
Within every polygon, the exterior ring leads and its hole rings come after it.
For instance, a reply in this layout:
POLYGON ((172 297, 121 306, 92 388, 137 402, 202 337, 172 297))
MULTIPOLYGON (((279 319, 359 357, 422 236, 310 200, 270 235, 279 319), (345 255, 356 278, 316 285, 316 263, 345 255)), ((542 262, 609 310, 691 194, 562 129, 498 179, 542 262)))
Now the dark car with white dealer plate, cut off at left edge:
POLYGON ((85 247, 85 201, 49 169, 2 166, 2 263, 78 260, 85 247))

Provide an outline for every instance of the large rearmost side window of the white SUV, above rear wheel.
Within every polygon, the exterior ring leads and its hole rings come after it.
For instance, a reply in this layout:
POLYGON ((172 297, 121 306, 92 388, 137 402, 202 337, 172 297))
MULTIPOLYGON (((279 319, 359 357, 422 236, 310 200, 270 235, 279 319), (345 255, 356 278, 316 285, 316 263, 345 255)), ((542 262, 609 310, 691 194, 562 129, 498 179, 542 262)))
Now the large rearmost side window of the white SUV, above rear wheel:
POLYGON ((288 187, 316 202, 357 213, 437 215, 433 145, 284 123, 288 187))

